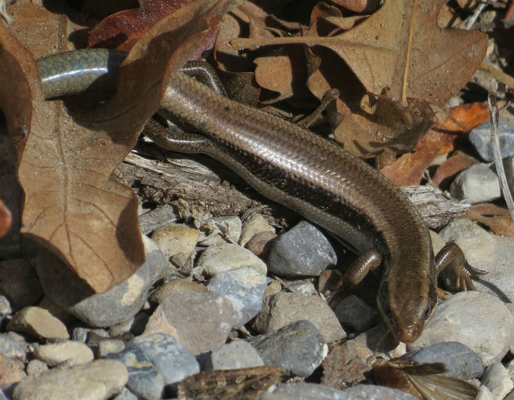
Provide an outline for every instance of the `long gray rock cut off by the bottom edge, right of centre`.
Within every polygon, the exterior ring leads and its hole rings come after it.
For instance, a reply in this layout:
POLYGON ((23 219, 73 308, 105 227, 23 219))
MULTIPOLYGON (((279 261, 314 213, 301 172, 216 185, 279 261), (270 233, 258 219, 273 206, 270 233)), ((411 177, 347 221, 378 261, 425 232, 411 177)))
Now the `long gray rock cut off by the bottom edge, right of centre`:
POLYGON ((261 400, 416 400, 404 391, 385 386, 356 385, 337 390, 321 384, 294 382, 278 386, 272 394, 266 393, 261 400))

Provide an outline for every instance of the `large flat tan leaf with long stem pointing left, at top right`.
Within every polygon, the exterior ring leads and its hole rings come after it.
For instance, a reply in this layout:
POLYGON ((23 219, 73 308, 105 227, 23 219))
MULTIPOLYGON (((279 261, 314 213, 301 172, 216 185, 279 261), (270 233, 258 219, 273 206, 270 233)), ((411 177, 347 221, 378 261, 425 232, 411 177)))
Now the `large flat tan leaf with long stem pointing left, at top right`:
POLYGON ((367 91, 442 106, 470 79, 488 39, 478 31, 443 29, 437 15, 445 0, 386 0, 366 21, 331 37, 233 39, 236 49, 268 44, 326 46, 346 61, 367 91))

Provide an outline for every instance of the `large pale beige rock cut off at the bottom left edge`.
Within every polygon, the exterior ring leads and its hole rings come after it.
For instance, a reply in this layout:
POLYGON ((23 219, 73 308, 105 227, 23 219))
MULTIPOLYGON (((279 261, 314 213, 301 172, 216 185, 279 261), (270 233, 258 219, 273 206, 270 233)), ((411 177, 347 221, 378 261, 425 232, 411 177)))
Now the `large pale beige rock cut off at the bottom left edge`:
POLYGON ((14 389, 14 400, 106 400, 125 386, 129 374, 119 361, 96 360, 27 376, 14 389))

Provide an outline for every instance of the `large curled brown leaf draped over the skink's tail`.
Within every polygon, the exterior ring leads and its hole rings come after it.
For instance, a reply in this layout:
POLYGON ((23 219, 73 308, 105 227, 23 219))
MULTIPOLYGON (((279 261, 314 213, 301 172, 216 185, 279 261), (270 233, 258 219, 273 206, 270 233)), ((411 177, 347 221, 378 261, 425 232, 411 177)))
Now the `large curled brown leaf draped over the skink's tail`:
POLYGON ((158 109, 162 82, 209 34, 202 16, 221 18, 227 2, 213 9, 215 3, 192 1, 146 31, 124 61, 116 95, 94 111, 44 101, 34 59, 0 26, 0 83, 17 91, 0 94, 0 106, 11 136, 25 145, 18 146, 22 233, 54 251, 96 292, 121 283, 144 261, 136 197, 111 172, 158 109))

